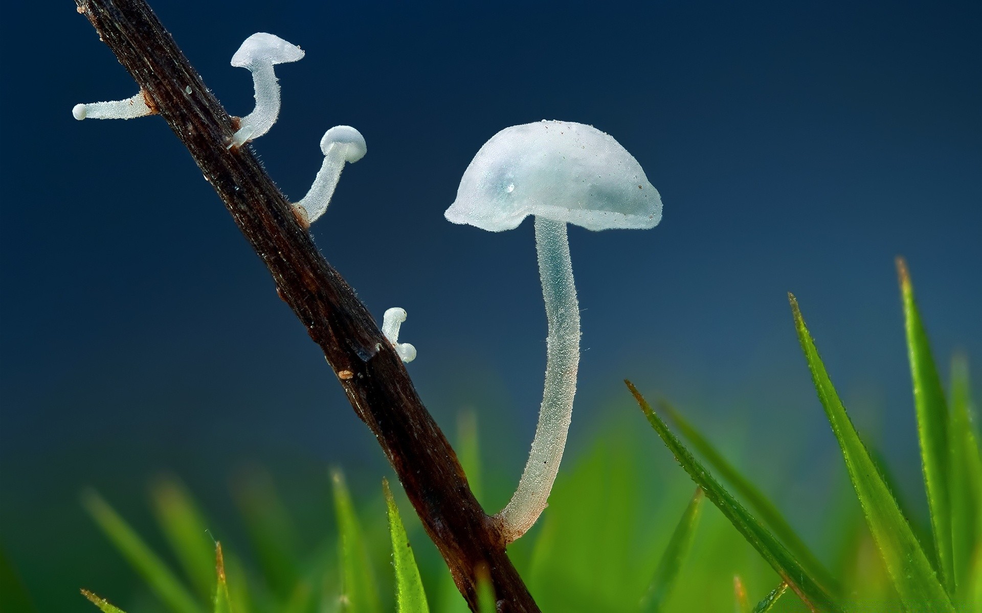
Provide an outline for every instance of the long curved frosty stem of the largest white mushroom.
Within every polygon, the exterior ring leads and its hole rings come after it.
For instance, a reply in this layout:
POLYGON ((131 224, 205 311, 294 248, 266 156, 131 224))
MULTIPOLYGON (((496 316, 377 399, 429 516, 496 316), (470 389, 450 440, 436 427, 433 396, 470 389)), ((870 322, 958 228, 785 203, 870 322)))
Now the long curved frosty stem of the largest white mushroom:
POLYGON ((579 303, 566 223, 536 216, 535 247, 549 321, 546 383, 539 423, 518 489, 508 505, 494 516, 506 543, 524 535, 547 506, 570 430, 579 366, 579 303))

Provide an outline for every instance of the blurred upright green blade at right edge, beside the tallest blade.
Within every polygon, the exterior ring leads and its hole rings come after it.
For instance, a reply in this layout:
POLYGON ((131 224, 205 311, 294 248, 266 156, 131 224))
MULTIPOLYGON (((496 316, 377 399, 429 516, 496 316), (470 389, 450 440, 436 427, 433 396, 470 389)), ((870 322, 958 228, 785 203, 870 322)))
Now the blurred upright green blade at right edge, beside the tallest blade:
MULTIPOLYGON (((980 544, 982 460, 969 410, 968 364, 952 360, 952 406, 949 413, 949 492, 952 495, 952 568, 955 593, 968 595, 972 554, 980 544)), ((964 600, 964 597, 962 597, 964 600)))

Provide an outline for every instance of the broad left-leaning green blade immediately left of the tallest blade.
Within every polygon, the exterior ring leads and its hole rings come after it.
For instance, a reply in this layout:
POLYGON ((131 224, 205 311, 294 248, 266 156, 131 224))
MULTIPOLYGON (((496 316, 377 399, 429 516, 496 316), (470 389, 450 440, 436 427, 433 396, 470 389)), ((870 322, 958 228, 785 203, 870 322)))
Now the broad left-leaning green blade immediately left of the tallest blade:
MULTIPOLYGON (((849 479, 852 481, 852 487, 866 516, 866 523, 876 540, 894 587, 910 610, 954 612, 955 609, 945 588, 935 576, 934 568, 900 513, 893 494, 877 472, 859 434, 856 434, 852 427, 846 408, 825 371, 825 365, 822 364, 808 329, 805 328, 797 300, 791 294, 789 298, 794 315, 794 327, 808 362, 815 389, 818 391, 818 398, 825 408, 832 431, 839 440, 843 457, 846 459, 849 479)), ((787 578, 783 579, 787 580, 787 578)))

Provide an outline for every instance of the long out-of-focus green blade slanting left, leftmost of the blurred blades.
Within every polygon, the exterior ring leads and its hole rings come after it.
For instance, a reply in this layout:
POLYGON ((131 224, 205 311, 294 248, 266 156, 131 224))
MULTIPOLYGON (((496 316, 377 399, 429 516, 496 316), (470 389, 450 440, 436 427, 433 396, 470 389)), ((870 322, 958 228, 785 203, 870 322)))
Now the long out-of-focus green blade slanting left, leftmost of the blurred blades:
POLYGON ((143 581, 171 611, 201 613, 191 592, 99 494, 94 491, 86 492, 82 496, 82 504, 103 534, 109 537, 143 581))

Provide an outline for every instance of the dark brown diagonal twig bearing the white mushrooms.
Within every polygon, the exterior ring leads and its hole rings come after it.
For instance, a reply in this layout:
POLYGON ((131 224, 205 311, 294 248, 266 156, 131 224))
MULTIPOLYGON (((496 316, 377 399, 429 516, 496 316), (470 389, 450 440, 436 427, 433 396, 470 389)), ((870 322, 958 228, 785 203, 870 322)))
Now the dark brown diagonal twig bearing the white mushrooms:
POLYGON ((499 611, 538 611, 474 499, 454 449, 402 361, 345 280, 314 247, 249 148, 228 149, 232 119, 143 0, 77 0, 159 115, 188 147, 262 258, 280 297, 320 345, 355 413, 378 438, 412 506, 476 611, 487 573, 499 611), (483 570, 479 570, 483 569, 483 570))

